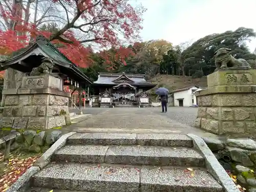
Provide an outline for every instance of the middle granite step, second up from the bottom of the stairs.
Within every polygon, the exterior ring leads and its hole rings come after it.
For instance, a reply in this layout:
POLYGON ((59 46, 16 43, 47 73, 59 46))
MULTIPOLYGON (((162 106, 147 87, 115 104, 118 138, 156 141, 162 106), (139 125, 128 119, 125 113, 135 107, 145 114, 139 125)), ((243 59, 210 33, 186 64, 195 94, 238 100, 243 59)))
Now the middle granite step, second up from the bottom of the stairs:
POLYGON ((140 145, 66 145, 52 161, 162 166, 205 166, 205 159, 193 148, 140 145))

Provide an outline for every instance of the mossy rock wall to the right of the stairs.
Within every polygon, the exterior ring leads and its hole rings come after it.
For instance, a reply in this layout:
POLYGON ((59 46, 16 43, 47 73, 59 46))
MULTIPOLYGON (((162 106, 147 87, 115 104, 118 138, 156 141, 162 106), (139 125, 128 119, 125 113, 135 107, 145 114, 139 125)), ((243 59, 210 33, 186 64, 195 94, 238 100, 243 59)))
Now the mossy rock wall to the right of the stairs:
POLYGON ((218 139, 204 137, 203 140, 215 154, 224 169, 237 176, 238 183, 256 191, 256 142, 252 139, 218 139))

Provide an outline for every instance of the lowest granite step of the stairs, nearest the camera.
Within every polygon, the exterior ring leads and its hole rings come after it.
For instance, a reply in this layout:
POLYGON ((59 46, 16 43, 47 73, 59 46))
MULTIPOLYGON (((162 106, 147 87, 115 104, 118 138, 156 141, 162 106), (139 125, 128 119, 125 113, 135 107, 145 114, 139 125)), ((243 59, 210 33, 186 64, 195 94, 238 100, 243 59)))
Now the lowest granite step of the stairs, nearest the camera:
MULTIPOLYGON (((33 176, 35 187, 91 192, 223 192, 204 169, 125 167, 80 163, 49 164, 33 176)), ((54 191, 54 190, 53 190, 54 191)))

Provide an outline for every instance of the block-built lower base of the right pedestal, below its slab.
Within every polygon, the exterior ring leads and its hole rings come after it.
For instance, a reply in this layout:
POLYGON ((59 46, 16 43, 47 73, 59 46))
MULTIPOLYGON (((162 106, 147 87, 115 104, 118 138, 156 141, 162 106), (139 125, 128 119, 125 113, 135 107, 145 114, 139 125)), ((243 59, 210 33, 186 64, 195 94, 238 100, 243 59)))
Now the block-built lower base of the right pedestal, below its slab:
POLYGON ((196 126, 215 134, 256 135, 256 94, 219 93, 198 96, 196 126))

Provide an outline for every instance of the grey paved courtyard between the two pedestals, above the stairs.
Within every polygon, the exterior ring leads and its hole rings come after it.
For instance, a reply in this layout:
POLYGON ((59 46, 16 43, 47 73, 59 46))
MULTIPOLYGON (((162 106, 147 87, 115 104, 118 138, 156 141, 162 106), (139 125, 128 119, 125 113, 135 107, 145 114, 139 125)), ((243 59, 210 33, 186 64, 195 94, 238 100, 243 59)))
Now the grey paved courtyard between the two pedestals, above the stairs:
MULTIPOLYGON (((77 110, 70 110, 77 112, 77 110)), ((91 114, 69 129, 78 132, 148 132, 148 133, 203 133, 193 127, 197 108, 86 108, 91 114)))

